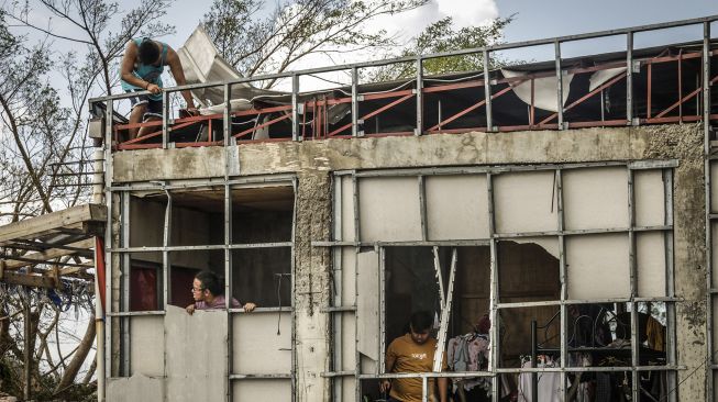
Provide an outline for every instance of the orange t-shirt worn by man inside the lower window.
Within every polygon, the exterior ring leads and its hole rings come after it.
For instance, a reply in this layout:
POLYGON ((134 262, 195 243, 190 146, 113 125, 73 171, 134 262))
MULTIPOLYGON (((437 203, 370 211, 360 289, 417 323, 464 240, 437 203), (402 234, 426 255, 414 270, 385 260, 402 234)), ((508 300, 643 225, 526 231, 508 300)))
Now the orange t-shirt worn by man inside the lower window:
MULTIPOLYGON (((400 336, 389 344, 386 350, 386 369, 389 372, 431 372, 434 362, 437 339, 429 338, 423 345, 411 339, 410 334, 400 336)), ((446 369, 446 354, 441 364, 446 369)), ((429 392, 433 390, 433 380, 429 380, 429 392)), ((395 378, 391 380, 389 397, 404 402, 421 402, 420 378, 395 378)))

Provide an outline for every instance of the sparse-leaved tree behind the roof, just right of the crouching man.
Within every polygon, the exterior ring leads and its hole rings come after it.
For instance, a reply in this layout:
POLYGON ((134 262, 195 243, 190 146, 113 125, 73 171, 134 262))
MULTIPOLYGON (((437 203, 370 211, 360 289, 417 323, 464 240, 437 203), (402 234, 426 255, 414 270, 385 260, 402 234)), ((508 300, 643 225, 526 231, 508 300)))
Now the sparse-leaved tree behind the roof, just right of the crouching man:
MULTIPOLYGON (((203 24, 222 57, 245 76, 283 72, 310 55, 396 45, 386 30, 369 32, 378 16, 408 11, 427 0, 296 0, 261 15, 261 0, 214 0, 203 24)), ((265 82, 272 87, 276 81, 265 82)))

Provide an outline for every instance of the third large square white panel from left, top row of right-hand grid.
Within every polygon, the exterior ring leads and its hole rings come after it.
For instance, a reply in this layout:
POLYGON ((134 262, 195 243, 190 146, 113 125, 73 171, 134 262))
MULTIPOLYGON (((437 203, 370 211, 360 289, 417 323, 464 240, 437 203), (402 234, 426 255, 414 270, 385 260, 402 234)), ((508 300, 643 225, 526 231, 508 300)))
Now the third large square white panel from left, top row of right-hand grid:
POLYGON ((556 231, 553 171, 519 171, 493 178, 497 233, 556 231))

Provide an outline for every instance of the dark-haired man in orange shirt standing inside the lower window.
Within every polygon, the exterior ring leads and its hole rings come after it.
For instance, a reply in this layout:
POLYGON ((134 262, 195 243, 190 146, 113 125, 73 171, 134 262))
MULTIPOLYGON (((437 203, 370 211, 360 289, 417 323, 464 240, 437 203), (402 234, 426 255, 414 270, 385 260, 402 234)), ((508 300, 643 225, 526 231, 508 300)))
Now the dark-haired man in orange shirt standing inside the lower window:
MULTIPOLYGON (((433 369, 437 339, 431 337, 432 315, 427 311, 411 314, 409 333, 389 344, 386 350, 386 372, 431 372, 433 369)), ((446 355, 442 361, 442 370, 446 369, 446 355)), ((448 380, 439 378, 439 400, 446 402, 448 380)), ((429 400, 433 397, 434 380, 429 380, 429 400)), ((379 384, 382 392, 390 390, 389 401, 421 402, 420 378, 396 378, 379 384)))

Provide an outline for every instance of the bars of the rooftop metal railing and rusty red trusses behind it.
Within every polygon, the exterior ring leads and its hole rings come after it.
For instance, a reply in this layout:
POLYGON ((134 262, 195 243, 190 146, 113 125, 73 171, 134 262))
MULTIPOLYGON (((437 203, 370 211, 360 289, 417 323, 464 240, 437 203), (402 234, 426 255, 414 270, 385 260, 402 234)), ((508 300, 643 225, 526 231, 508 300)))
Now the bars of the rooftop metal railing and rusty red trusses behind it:
MULTIPOLYGON (((283 74, 274 74, 274 75, 264 75, 264 76, 255 76, 255 77, 247 77, 247 78, 241 78, 241 79, 235 79, 227 82, 209 82, 209 83, 198 83, 198 85, 188 85, 188 86, 181 86, 181 87, 174 87, 174 88, 167 88, 163 92, 163 99, 165 100, 164 108, 163 108, 163 121, 162 122, 150 122, 150 123, 137 123, 137 124, 122 124, 122 125, 115 125, 114 127, 110 124, 108 126, 109 132, 113 133, 113 136, 117 138, 118 131, 119 130, 124 130, 124 129, 130 129, 130 127, 140 127, 140 126, 155 126, 158 127, 159 130, 147 134, 141 138, 135 138, 135 139, 130 139, 126 142, 123 142, 121 144, 114 145, 115 149, 141 149, 141 148, 170 148, 170 147, 194 147, 194 146, 209 146, 209 145, 228 145, 228 142, 224 141, 216 141, 213 138, 209 138, 208 141, 203 142, 175 142, 172 141, 170 135, 174 130, 181 129, 188 125, 207 125, 211 126, 212 120, 216 119, 224 119, 224 121, 228 121, 229 119, 233 116, 254 116, 257 119, 257 124, 255 124, 253 127, 246 129, 246 130, 241 130, 236 133, 234 133, 232 130, 228 130, 227 124, 224 127, 224 134, 225 138, 230 135, 232 135, 235 141, 241 141, 245 142, 245 139, 241 139, 242 137, 250 135, 254 132, 256 132, 259 129, 264 129, 270 125, 274 125, 276 123, 279 123, 285 120, 290 120, 290 133, 286 137, 281 138, 268 138, 268 139, 263 139, 264 142, 276 142, 276 141, 302 141, 302 139, 311 139, 311 138, 328 138, 328 137, 358 137, 358 136, 387 136, 387 135, 422 135, 424 133, 462 133, 462 132, 470 132, 470 131, 517 131, 517 130, 546 130, 546 129, 559 129, 559 130, 564 130, 567 127, 567 124, 571 123, 572 127, 586 127, 586 126, 620 126, 620 125, 638 125, 638 124, 645 124, 645 123, 672 123, 672 122, 684 122, 684 121, 698 121, 702 120, 702 116, 699 114, 696 115, 683 115, 683 104, 686 103, 687 101, 692 100, 693 98, 697 99, 698 92, 700 92, 699 89, 696 89, 695 91, 688 93, 687 96, 683 96, 680 93, 678 100, 667 108, 666 110, 659 112, 655 114, 655 116, 652 115, 652 112, 649 110, 647 115, 643 116, 637 116, 634 115, 634 110, 633 110, 633 104, 636 103, 636 97, 637 93, 633 91, 633 65, 636 63, 634 56, 633 56, 633 36, 637 33, 642 33, 642 32, 649 32, 649 31, 655 31, 655 30, 663 30, 663 29, 669 29, 669 27, 677 27, 677 26, 687 26, 687 25, 698 25, 698 24, 704 24, 704 25, 709 25, 711 22, 718 21, 718 15, 710 15, 710 16, 705 16, 705 18, 699 18, 699 19, 692 19, 692 20, 683 20, 683 21, 675 21, 675 22, 670 22, 670 23, 661 23, 661 24, 650 24, 650 25, 640 25, 640 26, 633 26, 633 27, 628 27, 628 29, 621 29, 621 30, 609 30, 609 31, 600 31, 600 32, 595 32, 595 33, 587 33, 587 34, 579 34, 579 35, 567 35, 567 36, 561 36, 561 37, 553 37, 553 38, 545 38, 545 40, 537 40, 537 41, 528 41, 528 42, 519 42, 519 43, 510 43, 510 44, 501 44, 501 45, 495 45, 495 46, 488 46, 488 47, 482 47, 482 48, 471 48, 471 49, 463 49, 463 51, 457 51, 457 52, 446 52, 446 53, 439 53, 439 54, 431 54, 431 55, 421 55, 421 56, 412 56, 412 57, 399 57, 399 58, 394 58, 394 59, 386 59, 386 60, 376 60, 376 62, 366 62, 366 63, 357 63, 357 64, 350 64, 350 65, 342 65, 342 66, 332 66, 332 67, 321 67, 321 68, 312 68, 312 69, 306 69, 306 70, 298 70, 298 71, 289 71, 289 72, 283 72, 283 74), (605 37, 605 36, 615 36, 615 35, 626 35, 627 41, 626 41, 626 59, 625 62, 612 62, 612 63, 607 63, 603 66, 597 66, 597 67, 590 67, 590 68, 563 68, 562 67, 562 57, 561 57, 561 44, 562 43, 567 43, 567 42, 573 42, 573 41, 582 41, 582 40, 592 40, 592 38, 599 38, 599 37, 605 37), (553 45, 554 46, 554 52, 555 52, 555 70, 554 71, 545 71, 545 72, 535 72, 531 75, 527 75, 526 77, 522 78, 516 78, 516 79, 490 79, 490 74, 491 70, 489 69, 489 57, 491 52, 497 52, 497 51, 502 51, 502 49, 515 49, 515 48, 521 48, 521 47, 528 47, 528 46, 539 46, 539 45, 553 45), (448 85, 435 85, 432 87, 427 87, 426 83, 431 80, 431 78, 426 78, 423 75, 423 62, 428 59, 433 59, 433 58, 440 58, 440 57, 452 57, 452 56, 464 56, 464 55, 477 55, 482 54, 484 58, 484 65, 483 65, 483 80, 472 80, 470 78, 468 81, 465 82, 455 82, 455 83, 448 83, 448 85), (368 67, 377 67, 377 66, 387 66, 387 65, 396 65, 396 64, 406 64, 406 63, 412 63, 416 65, 416 77, 407 80, 405 83, 406 85, 411 85, 413 88, 410 89, 402 89, 402 90, 389 90, 385 92, 366 92, 366 93, 360 93, 360 87, 358 87, 358 70, 361 68, 368 68, 368 67), (576 122, 566 122, 564 118, 564 112, 568 111, 570 109, 576 107, 577 104, 581 104, 582 102, 586 101, 588 98, 592 98, 595 94, 600 93, 600 96, 604 96, 604 89, 619 82, 622 80, 623 76, 619 76, 616 79, 612 79, 610 82, 605 83, 600 88, 597 88, 596 90, 592 91, 590 93, 585 94, 579 100, 573 102, 571 105, 563 107, 563 91, 564 88, 562 88, 562 76, 565 74, 582 74, 582 72, 593 72, 606 68, 614 68, 617 66, 625 66, 627 67, 627 71, 625 75, 626 78, 626 104, 627 104, 627 110, 626 110, 626 119, 619 119, 619 120, 611 120, 611 121, 605 121, 603 118, 603 107, 601 107, 601 119, 599 121, 576 121, 576 122), (346 71, 351 70, 351 85, 349 86, 349 89, 351 92, 347 92, 347 90, 340 89, 341 91, 345 92, 347 96, 346 97, 340 97, 340 98, 334 98, 334 99, 328 99, 327 94, 329 92, 300 92, 300 87, 299 87, 299 79, 303 76, 311 76, 311 75, 317 75, 317 74, 322 74, 322 72, 331 72, 331 71, 346 71), (521 80, 530 80, 531 83, 533 83, 534 78, 540 78, 540 77, 546 77, 546 76, 555 76, 556 77, 556 96, 557 96, 557 112, 550 115, 549 118, 542 120, 538 124, 534 122, 534 107, 533 102, 531 102, 530 110, 531 112, 529 113, 529 119, 528 119, 528 124, 522 124, 522 125, 505 125, 501 127, 496 127, 494 126, 494 119, 493 119, 493 105, 491 105, 491 100, 495 99, 496 97, 499 97, 502 93, 506 93, 511 89, 510 83, 516 83, 520 82, 521 80), (290 104, 286 105, 277 105, 277 107, 268 107, 268 108, 262 108, 262 109, 250 109, 245 111, 238 111, 238 112, 230 112, 230 102, 229 102, 229 92, 225 99, 225 108, 223 113, 217 113, 212 115, 203 115, 203 116, 192 116, 192 118, 185 118, 185 119, 173 119, 170 116, 170 111, 169 111, 169 105, 167 100, 170 98, 170 96, 174 92, 181 91, 181 90, 191 90, 191 89, 199 89, 199 88, 209 88, 209 87, 220 87, 224 86, 225 89, 235 83, 244 83, 244 82, 253 82, 253 81, 262 81, 262 80, 267 80, 267 79, 278 79, 278 78, 290 78, 291 79, 291 91, 287 94, 287 98, 289 99, 290 104), (497 91, 496 93, 491 93, 491 86, 501 86, 502 88, 497 91), (453 116, 444 120, 443 122, 440 122, 440 124, 434 125, 428 130, 424 129, 424 119, 423 114, 426 112, 424 110, 424 99, 423 96, 426 93, 431 93, 431 92, 440 92, 440 91, 451 91, 455 89, 462 89, 462 88, 471 88, 471 87, 484 87, 484 100, 479 101, 476 104, 470 105, 462 110, 461 112, 454 114, 453 116), (313 97, 313 100, 305 100, 300 101, 299 97, 313 97), (318 99, 321 96, 321 99, 318 99), (363 116, 358 115, 358 103, 362 101, 368 101, 368 100, 377 100, 377 99, 386 99, 386 98, 396 98, 393 102, 382 105, 382 107, 376 107, 375 110, 369 111, 365 113, 363 116), (397 104, 400 104, 402 102, 406 102, 407 100, 415 98, 416 99, 416 127, 413 132, 401 132, 401 133, 375 133, 375 134, 369 134, 366 135, 364 134, 364 131, 361 130, 363 123, 373 116, 378 116, 380 113, 385 113, 387 110, 396 107, 397 104), (351 104, 351 122, 349 124, 344 124, 342 126, 330 126, 330 123, 328 121, 328 107, 329 105, 335 105, 340 103, 350 103, 351 104), (446 124, 449 124, 451 121, 454 121, 456 119, 460 119, 461 116, 465 115, 466 113, 476 110, 477 108, 484 107, 485 113, 486 113, 486 126, 485 127, 471 127, 471 129, 448 129, 446 124), (678 115, 671 115, 666 116, 669 113, 674 111, 675 109, 678 109, 678 115), (312 111, 312 114, 314 115, 314 119, 307 123, 306 122, 306 116, 309 114, 309 111, 312 111), (276 113, 278 116, 258 124, 258 118, 262 114, 267 114, 267 113, 276 113), (301 116, 300 116, 301 114, 301 116), (302 119, 302 122, 299 120, 302 119), (550 123, 552 120, 556 120, 555 123, 550 123), (316 120, 316 121, 314 121, 316 120), (307 125, 311 125, 312 132, 310 134, 306 134, 306 127, 307 125), (301 130, 300 130, 301 127, 301 130), (349 131, 347 133, 344 133, 349 131), (154 138, 156 136, 162 136, 162 142, 159 144, 146 144, 144 143, 146 139, 154 138)), ((718 51, 710 51, 710 42, 708 41, 707 43, 708 46, 708 54, 711 56, 715 56, 718 54, 718 51)), ((656 63, 678 63, 678 70, 681 70, 683 60, 687 58, 695 58, 695 57, 702 57, 699 52, 696 53, 687 53, 687 54, 678 54, 677 56, 662 56, 659 55, 656 57, 648 58, 645 60, 641 60, 641 64, 647 67, 647 74, 649 77, 652 75, 652 65, 656 63)), ((650 80, 650 79, 649 79, 650 80)), ((681 88, 681 92, 683 91, 683 86, 682 86, 682 79, 678 76, 678 87, 681 88)), ((716 82, 718 80, 718 77, 714 77, 710 81, 716 82)), ((649 91, 647 93, 648 96, 648 103, 651 104, 651 86, 649 85, 649 91)), ((705 93, 704 93, 705 94, 705 93)), ((110 100, 119 100, 119 99, 125 99, 131 97, 132 94, 118 94, 118 96, 111 96, 111 97, 101 97, 101 98, 95 98, 90 100, 90 103, 97 103, 97 102, 107 102, 110 100)), ((718 120, 718 113, 710 114, 708 113, 706 116, 703 116, 703 119, 711 119, 711 120, 718 120)), ((248 139, 248 142, 253 142, 254 139, 248 139)), ((229 145, 233 145, 229 144, 229 145)))

